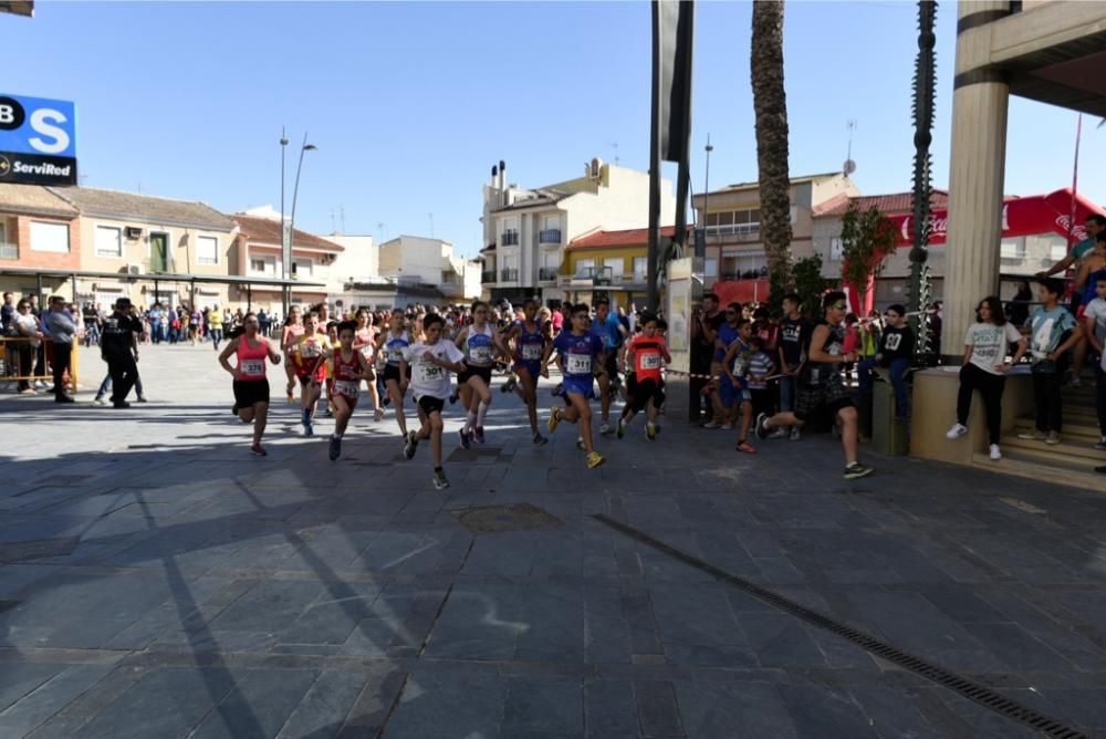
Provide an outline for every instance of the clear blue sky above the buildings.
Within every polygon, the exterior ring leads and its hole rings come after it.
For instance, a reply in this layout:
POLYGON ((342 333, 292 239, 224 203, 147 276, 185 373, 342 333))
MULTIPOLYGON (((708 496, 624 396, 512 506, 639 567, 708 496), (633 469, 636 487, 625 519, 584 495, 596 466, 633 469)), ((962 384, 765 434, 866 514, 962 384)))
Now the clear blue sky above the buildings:
MULTIPOLYGON (((692 187, 755 179, 748 3, 700 2, 692 187)), ((916 9, 790 2, 785 74, 793 175, 841 167, 846 122, 863 192, 909 189, 916 9)), ((947 184, 956 7, 938 14, 933 181, 947 184)), ((170 3, 40 0, 0 15, 0 93, 77 103, 83 184, 280 202, 280 131, 307 154, 298 226, 379 238, 434 233, 479 248, 480 186, 508 162, 540 186, 617 154, 648 164, 649 7, 560 3, 170 3)), ((1013 98, 1006 191, 1071 184, 1076 114, 1013 98)), ((1106 127, 1085 119, 1079 190, 1106 201, 1106 127)), ((666 171, 667 174, 667 171, 666 171)), ((671 174, 675 174, 672 171, 671 174)))

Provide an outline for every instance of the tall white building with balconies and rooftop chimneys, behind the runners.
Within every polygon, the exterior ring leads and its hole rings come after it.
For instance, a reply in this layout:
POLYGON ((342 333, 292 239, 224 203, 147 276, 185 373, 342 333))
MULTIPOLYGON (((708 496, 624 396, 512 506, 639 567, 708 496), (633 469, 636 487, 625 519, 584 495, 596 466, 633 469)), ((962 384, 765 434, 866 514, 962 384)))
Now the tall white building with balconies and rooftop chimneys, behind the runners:
MULTIPOLYGON (((557 275, 565 246, 593 231, 645 228, 649 223, 648 173, 592 159, 583 177, 525 189, 507 184, 503 162, 483 187, 483 294, 521 301, 540 295, 561 301, 557 275)), ((661 179, 660 225, 676 221, 672 184, 661 179)))

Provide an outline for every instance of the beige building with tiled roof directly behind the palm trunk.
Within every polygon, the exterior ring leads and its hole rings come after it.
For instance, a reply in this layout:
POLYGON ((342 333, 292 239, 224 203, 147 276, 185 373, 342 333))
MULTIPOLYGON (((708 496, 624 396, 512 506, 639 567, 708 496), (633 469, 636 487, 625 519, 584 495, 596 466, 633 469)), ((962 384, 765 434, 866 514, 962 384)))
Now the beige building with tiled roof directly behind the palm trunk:
MULTIPOLYGON (((853 181, 841 173, 794 177, 791 180, 791 253, 803 259, 814 253, 814 215, 838 196, 857 196, 853 181)), ((768 258, 760 231, 760 185, 740 183, 691 198, 696 222, 706 230, 703 285, 749 280, 766 274, 768 258)))

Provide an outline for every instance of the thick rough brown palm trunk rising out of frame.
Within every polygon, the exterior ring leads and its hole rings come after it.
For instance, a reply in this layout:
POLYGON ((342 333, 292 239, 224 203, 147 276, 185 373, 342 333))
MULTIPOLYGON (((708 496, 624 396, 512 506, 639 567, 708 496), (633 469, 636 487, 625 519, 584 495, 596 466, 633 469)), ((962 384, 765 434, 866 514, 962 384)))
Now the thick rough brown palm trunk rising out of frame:
POLYGON ((772 301, 794 288, 791 274, 791 177, 787 96, 783 89, 783 0, 753 3, 753 111, 760 183, 761 241, 772 278, 772 301))

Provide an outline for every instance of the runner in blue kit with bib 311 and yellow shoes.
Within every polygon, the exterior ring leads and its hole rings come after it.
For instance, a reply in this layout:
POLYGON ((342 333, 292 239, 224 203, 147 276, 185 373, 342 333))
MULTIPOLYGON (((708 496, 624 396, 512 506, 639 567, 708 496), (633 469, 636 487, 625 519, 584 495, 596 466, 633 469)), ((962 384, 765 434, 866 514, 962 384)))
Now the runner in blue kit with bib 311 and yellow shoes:
MULTIPOLYGON (((564 402, 568 407, 550 409, 549 429, 552 434, 561 420, 570 424, 580 421, 580 431, 584 450, 587 451, 587 467, 595 468, 606 461, 596 450, 592 441, 592 408, 588 400, 595 397, 595 366, 603 356, 603 340, 591 333, 587 323, 591 311, 581 303, 572 309, 572 330, 564 331, 552 344, 545 347, 542 357, 542 374, 549 376, 549 358, 553 351, 562 354, 562 372, 564 376, 564 402)), ((599 367, 606 374, 605 367, 599 367)))

